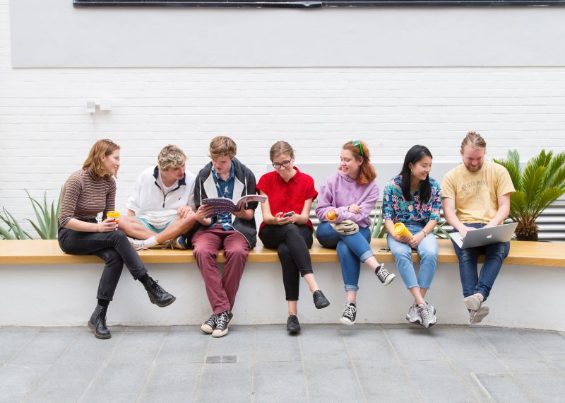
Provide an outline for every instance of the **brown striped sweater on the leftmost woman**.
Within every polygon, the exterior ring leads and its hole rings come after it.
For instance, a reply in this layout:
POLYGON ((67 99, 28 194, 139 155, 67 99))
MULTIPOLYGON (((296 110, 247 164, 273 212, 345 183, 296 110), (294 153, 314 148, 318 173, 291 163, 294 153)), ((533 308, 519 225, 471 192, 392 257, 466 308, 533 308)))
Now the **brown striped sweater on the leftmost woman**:
POLYGON ((104 218, 116 205, 116 181, 113 177, 95 177, 90 170, 78 170, 66 180, 61 194, 59 228, 71 218, 92 221, 103 211, 104 218))

